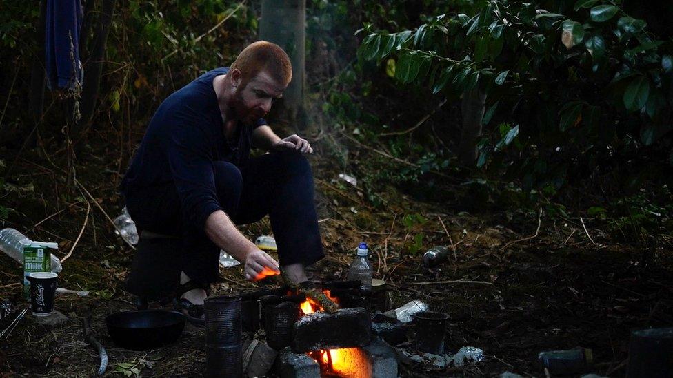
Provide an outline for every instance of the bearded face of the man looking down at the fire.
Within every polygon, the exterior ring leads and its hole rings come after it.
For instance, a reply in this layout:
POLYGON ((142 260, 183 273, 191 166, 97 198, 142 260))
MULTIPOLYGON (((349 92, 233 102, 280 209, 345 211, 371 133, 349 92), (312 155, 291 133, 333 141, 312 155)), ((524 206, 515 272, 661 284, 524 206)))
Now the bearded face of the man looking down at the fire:
POLYGON ((281 98, 285 87, 266 72, 259 72, 234 92, 232 107, 237 118, 245 123, 254 123, 262 118, 271 110, 273 101, 281 98))

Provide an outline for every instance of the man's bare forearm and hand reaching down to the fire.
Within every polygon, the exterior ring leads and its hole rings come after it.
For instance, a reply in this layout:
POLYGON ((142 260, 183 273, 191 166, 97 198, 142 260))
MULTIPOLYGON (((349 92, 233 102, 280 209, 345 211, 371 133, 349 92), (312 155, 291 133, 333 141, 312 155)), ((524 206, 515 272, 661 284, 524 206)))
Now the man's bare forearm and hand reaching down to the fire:
POLYGON ((278 263, 239 231, 224 211, 217 210, 205 220, 205 233, 217 246, 245 264, 245 278, 260 280, 278 274, 278 263))

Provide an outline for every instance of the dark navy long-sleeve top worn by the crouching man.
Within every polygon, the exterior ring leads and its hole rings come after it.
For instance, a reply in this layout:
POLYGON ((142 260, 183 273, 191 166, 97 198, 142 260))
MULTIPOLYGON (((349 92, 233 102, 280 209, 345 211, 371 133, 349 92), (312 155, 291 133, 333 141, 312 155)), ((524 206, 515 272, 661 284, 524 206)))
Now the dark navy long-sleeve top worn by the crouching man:
POLYGON ((223 210, 213 162, 245 165, 252 130, 266 125, 263 118, 254 125, 239 123, 233 137, 226 138, 212 81, 228 71, 221 67, 206 72, 161 103, 121 183, 125 196, 134 189, 175 185, 185 221, 199 227, 205 227, 213 211, 223 210))

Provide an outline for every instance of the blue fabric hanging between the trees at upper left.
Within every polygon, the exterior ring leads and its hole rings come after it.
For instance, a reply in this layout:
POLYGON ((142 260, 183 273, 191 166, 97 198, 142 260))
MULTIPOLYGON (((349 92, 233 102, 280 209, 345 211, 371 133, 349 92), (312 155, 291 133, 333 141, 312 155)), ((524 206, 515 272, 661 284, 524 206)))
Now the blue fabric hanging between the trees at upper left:
MULTIPOLYGON (((81 85, 79 30, 82 25, 80 0, 46 0, 45 63, 50 90, 74 89, 81 85), (72 52, 72 56, 71 56, 72 52)), ((92 1, 92 0, 88 0, 92 1)))

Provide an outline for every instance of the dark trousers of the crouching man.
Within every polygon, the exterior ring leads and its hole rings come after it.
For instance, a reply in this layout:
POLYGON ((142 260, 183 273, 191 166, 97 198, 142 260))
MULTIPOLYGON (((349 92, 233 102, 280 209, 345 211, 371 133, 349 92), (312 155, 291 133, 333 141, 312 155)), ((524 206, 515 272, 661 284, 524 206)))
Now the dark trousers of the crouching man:
MULTIPOLYGON (((241 169, 230 162, 214 162, 213 166, 219 203, 235 224, 256 222, 269 215, 281 266, 295 263, 308 266, 324 257, 314 205, 313 175, 306 158, 299 153, 283 152, 250 158, 241 169)), ((167 280, 169 277, 165 275, 180 271, 195 282, 217 281, 220 249, 205 230, 183 222, 174 185, 128 190, 125 200, 140 232, 172 235, 181 246, 176 247, 174 242, 172 247, 163 248, 172 251, 157 251, 162 249, 156 245, 161 242, 143 241, 141 234, 128 278, 127 286, 132 293, 144 292, 132 286, 167 280)))

